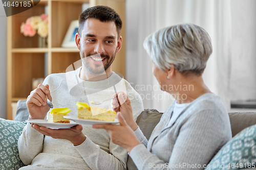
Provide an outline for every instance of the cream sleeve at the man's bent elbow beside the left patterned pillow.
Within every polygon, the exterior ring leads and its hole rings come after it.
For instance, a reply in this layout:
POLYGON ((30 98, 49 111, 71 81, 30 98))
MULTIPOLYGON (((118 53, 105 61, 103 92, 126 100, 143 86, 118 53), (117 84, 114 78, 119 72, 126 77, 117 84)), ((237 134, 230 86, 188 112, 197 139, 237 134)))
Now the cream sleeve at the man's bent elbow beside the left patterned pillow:
POLYGON ((44 135, 31 127, 28 123, 22 135, 18 138, 19 157, 25 165, 31 164, 36 155, 42 152, 44 135))

